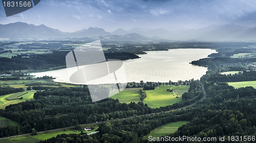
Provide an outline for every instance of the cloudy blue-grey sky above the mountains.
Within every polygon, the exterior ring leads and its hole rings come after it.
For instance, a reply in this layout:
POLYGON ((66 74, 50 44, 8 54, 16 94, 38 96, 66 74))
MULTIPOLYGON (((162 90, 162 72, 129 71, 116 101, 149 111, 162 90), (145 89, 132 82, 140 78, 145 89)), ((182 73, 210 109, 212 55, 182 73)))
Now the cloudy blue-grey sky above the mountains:
POLYGON ((134 27, 200 28, 234 23, 256 26, 255 0, 41 0, 34 8, 6 17, 0 5, 0 23, 45 24, 64 32, 100 27, 112 32, 134 27))

